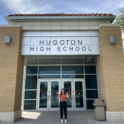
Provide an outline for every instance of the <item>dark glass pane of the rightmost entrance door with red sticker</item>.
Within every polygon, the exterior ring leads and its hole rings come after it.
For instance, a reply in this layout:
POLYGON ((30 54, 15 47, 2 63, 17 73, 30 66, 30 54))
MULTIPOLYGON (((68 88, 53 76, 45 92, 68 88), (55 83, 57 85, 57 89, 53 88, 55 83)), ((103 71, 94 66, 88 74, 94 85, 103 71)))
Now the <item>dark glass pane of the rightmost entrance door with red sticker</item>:
POLYGON ((83 107, 83 86, 82 81, 75 81, 76 107, 83 107))

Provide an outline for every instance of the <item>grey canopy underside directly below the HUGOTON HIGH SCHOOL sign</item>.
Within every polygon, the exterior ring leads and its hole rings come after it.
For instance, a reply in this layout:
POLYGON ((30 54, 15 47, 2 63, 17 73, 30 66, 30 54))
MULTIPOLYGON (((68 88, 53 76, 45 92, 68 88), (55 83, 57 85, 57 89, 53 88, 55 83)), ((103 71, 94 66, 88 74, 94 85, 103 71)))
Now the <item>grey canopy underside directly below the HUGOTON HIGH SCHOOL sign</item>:
POLYGON ((97 55, 25 56, 25 65, 37 64, 96 64, 97 55))

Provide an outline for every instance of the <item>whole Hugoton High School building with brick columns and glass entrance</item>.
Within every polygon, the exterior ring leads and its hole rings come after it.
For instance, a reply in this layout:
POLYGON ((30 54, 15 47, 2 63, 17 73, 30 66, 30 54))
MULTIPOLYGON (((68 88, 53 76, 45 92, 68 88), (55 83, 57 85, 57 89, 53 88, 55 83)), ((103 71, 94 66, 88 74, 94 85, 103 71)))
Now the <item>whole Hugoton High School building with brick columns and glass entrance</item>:
MULTIPOLYGON (((105 103, 108 122, 124 122, 124 53, 115 16, 10 14, 0 26, 0 122, 22 111, 59 111, 57 92, 69 91, 68 111, 105 103)), ((77 115, 78 116, 78 115, 77 115)))

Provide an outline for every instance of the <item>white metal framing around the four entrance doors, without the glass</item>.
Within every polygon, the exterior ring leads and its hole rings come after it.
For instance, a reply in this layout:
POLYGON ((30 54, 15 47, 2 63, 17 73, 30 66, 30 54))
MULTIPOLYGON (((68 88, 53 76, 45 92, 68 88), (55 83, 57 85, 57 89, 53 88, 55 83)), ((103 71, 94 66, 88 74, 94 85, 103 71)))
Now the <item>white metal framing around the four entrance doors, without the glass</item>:
MULTIPOLYGON (((74 110, 74 111, 85 111, 86 109, 86 89, 85 89, 85 80, 84 78, 77 78, 77 79, 38 79, 38 88, 37 88, 37 110, 38 111, 56 111, 59 110, 58 108, 51 108, 51 81, 59 81, 59 93, 61 92, 61 88, 64 88, 64 81, 71 81, 71 91, 72 91, 72 108, 67 108, 68 110, 74 110), (48 82, 47 85, 47 108, 39 108, 39 93, 40 93, 40 82, 46 81, 48 82), (75 105, 75 81, 82 81, 82 86, 83 86, 83 108, 76 108, 75 105)), ((60 103, 60 99, 59 99, 60 103)))

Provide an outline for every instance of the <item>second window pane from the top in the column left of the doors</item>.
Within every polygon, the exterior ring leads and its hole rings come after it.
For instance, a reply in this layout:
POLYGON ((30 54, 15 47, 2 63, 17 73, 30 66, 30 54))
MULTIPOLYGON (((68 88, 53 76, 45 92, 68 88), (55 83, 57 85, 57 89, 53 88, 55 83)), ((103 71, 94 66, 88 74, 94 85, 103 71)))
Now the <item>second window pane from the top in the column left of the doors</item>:
POLYGON ((26 76, 25 89, 37 89, 37 76, 26 76))

